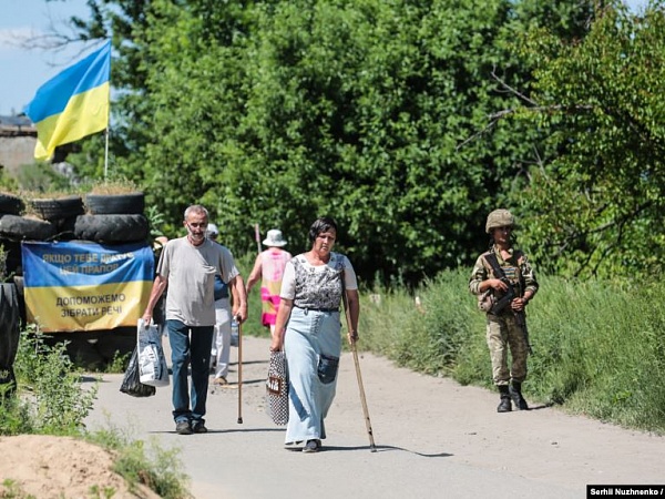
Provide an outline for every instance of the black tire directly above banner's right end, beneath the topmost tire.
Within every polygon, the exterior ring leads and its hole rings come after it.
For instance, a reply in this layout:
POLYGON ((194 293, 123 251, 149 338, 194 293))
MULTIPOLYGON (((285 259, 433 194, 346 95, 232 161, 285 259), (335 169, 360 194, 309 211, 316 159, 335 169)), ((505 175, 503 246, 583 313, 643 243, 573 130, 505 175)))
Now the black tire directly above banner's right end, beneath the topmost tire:
POLYGON ((147 238, 147 218, 143 215, 79 215, 74 236, 98 243, 133 243, 147 238))

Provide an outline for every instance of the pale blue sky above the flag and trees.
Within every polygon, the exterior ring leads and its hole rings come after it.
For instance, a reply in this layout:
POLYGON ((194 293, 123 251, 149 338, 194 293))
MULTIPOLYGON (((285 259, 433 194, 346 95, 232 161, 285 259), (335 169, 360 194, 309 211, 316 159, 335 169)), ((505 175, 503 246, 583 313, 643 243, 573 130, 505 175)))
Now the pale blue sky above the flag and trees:
MULTIPOLYGON (((633 9, 645 3, 627 1, 633 9)), ((20 47, 21 40, 52 31, 51 27, 69 33, 71 16, 88 19, 85 0, 0 0, 0 115, 22 112, 37 89, 88 54, 81 44, 62 52, 20 47)))

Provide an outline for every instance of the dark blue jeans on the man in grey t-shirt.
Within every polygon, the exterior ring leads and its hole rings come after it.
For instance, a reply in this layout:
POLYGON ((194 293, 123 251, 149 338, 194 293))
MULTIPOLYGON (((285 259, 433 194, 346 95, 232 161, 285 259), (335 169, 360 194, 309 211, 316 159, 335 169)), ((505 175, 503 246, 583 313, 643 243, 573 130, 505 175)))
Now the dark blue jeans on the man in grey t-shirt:
POLYGON ((187 326, 180 320, 166 320, 173 368, 173 419, 205 422, 211 348, 214 326, 187 326), (192 339, 190 339, 192 332, 192 339), (192 409, 187 368, 192 368, 192 409))

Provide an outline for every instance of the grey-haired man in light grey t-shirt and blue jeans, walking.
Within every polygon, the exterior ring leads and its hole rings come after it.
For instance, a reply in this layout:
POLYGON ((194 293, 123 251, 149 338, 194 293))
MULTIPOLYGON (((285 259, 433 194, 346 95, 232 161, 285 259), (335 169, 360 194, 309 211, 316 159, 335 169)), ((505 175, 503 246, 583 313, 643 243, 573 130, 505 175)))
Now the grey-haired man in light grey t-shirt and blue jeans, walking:
POLYGON ((215 275, 237 293, 241 322, 247 318, 247 294, 231 252, 205 236, 207 210, 192 205, 184 218, 187 235, 164 246, 143 320, 150 324, 155 304, 168 287, 165 315, 172 352, 173 418, 178 434, 191 435, 207 431, 204 416, 215 327, 215 275))

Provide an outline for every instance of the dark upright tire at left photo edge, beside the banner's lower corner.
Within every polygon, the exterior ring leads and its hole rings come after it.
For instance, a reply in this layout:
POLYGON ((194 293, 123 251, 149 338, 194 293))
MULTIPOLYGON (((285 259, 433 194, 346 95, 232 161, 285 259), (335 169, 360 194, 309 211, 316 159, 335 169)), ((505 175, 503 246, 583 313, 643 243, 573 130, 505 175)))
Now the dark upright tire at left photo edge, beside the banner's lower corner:
POLYGON ((14 381, 13 363, 19 349, 19 298, 14 283, 0 283, 0 383, 14 381))

